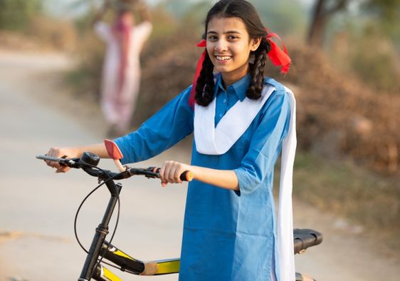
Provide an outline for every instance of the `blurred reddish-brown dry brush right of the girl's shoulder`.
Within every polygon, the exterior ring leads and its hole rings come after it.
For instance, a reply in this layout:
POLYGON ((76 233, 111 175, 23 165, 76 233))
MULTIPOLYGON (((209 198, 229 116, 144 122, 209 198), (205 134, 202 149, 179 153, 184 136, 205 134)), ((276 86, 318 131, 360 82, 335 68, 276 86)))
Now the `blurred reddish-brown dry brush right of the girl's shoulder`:
POLYGON ((400 173, 400 96, 377 95, 330 66, 316 49, 290 46, 286 81, 299 88, 298 135, 302 148, 345 153, 386 174, 400 173))

